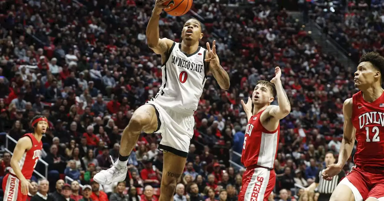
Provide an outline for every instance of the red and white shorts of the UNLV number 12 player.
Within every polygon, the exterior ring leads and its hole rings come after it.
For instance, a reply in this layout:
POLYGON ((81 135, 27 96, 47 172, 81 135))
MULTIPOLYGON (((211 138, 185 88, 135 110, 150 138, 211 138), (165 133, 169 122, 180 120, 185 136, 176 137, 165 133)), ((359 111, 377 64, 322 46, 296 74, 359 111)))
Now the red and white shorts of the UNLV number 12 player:
POLYGON ((351 188, 355 201, 368 198, 384 200, 384 173, 381 168, 353 167, 340 184, 351 188))

